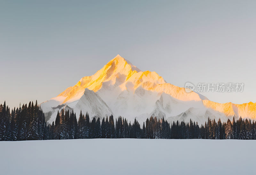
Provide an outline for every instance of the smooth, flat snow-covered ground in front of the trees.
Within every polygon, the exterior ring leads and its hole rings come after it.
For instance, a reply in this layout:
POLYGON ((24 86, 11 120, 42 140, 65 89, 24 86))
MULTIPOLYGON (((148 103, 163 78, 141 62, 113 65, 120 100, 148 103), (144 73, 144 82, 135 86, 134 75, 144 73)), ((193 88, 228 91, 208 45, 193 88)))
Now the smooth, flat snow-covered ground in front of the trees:
POLYGON ((1 141, 0 174, 255 174, 256 140, 1 141))

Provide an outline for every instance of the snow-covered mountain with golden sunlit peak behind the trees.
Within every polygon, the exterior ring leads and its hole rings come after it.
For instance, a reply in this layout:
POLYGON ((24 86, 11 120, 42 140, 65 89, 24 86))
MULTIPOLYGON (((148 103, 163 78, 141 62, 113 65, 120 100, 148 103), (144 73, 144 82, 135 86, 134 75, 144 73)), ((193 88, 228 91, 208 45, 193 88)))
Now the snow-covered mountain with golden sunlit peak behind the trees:
MULTIPOLYGON (((205 96, 167 83, 156 72, 141 71, 120 55, 110 60, 92 76, 81 78, 75 86, 67 88, 57 97, 41 103, 49 122, 55 120, 61 108, 76 114, 88 112, 91 117, 103 118, 113 114, 142 123, 150 116, 168 122, 190 118, 203 124, 208 116, 227 121, 242 116, 254 119, 256 103, 237 105, 215 103, 205 96)), ((78 115, 77 115, 78 117, 78 115)))

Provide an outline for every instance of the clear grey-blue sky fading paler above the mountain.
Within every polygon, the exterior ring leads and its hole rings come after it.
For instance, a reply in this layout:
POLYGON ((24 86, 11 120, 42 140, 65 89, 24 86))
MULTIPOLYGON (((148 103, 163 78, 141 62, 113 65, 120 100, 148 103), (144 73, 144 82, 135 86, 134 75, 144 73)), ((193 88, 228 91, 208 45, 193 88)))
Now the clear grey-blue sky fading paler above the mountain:
POLYGON ((117 54, 171 84, 244 83, 256 102, 255 1, 0 1, 0 103, 39 103, 117 54))

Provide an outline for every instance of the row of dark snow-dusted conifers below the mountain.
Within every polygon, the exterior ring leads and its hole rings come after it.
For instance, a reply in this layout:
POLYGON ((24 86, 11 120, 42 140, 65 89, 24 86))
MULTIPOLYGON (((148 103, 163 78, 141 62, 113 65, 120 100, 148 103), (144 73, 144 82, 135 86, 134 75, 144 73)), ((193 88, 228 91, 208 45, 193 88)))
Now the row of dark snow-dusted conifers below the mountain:
POLYGON ((171 125, 163 118, 147 118, 140 123, 133 123, 113 115, 90 120, 88 113, 80 111, 76 119, 74 111, 61 109, 55 122, 47 123, 44 112, 33 101, 10 110, 0 105, 0 140, 47 140, 47 139, 94 139, 94 138, 137 138, 137 139, 256 139, 256 123, 250 119, 242 119, 221 123, 215 119, 199 126, 190 119, 173 122, 171 125))

